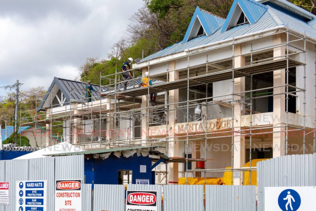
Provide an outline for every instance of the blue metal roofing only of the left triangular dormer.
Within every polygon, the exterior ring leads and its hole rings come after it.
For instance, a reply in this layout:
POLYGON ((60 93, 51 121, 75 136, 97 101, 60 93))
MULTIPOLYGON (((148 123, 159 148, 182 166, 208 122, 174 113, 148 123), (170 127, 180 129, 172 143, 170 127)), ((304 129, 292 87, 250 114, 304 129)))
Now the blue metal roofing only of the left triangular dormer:
POLYGON ((195 19, 197 17, 200 20, 201 25, 203 26, 205 33, 207 35, 214 33, 225 22, 225 19, 223 19, 219 16, 216 16, 216 15, 213 15, 212 13, 197 7, 194 11, 191 22, 189 24, 189 27, 186 30, 185 36, 183 38, 184 42, 186 42, 188 40, 191 29, 192 29, 194 22, 195 22, 195 19))

